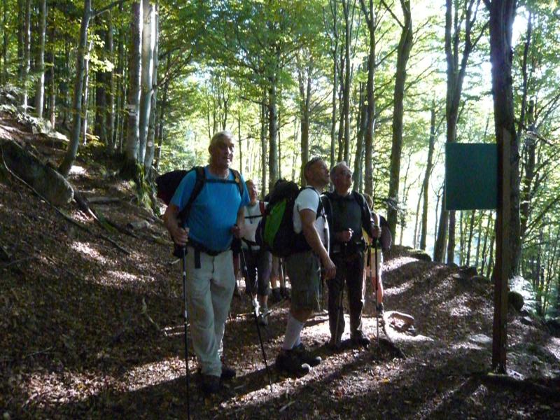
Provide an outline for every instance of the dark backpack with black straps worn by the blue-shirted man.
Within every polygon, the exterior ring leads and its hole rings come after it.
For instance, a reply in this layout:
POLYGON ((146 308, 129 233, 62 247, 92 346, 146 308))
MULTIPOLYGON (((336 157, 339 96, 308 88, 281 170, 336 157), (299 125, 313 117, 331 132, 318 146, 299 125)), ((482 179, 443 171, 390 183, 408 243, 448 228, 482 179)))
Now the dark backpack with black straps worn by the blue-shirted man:
MULTIPOLYGON (((169 205, 169 202, 171 202, 173 195, 175 194, 175 190, 179 187, 179 184, 181 183, 181 181, 183 181, 183 178, 186 176, 186 174, 188 174, 191 171, 196 172, 195 186, 193 187, 193 192, 190 193, 190 197, 188 198, 187 204, 185 205, 185 207, 183 207, 183 210, 179 212, 178 218, 179 218, 179 224, 181 226, 185 225, 188 216, 190 214, 190 209, 193 207, 193 203, 197 199, 198 195, 200 194, 202 188, 204 188, 204 185, 206 183, 237 183, 237 186, 239 187, 239 195, 243 197, 244 186, 243 183, 241 182, 241 175, 235 169, 230 169, 230 173, 232 173, 234 177, 233 180, 207 179, 206 172, 204 171, 204 167, 200 167, 200 166, 193 167, 188 171, 184 169, 177 169, 176 171, 166 172, 165 174, 158 176, 158 178, 155 179, 155 185, 158 191, 157 197, 160 198, 163 202, 165 202, 165 204, 169 205)), ((174 245, 175 245, 174 255, 176 257, 181 256, 181 252, 180 252, 181 248, 178 247, 176 244, 174 245)))

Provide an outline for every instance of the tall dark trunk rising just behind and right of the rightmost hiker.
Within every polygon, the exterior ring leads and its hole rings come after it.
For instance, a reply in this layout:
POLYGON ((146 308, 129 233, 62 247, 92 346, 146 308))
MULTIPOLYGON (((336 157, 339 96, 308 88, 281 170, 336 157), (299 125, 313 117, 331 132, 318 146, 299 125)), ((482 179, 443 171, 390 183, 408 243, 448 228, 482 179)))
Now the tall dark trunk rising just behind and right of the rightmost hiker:
POLYGON ((407 79, 407 62, 412 49, 412 16, 410 1, 400 0, 404 25, 397 50, 397 70, 395 72, 394 110, 393 110, 393 142, 391 146, 391 168, 389 175, 389 192, 387 200, 387 222, 393 238, 397 228, 398 191, 400 181, 400 155, 402 153, 402 116, 405 97, 405 82, 407 79))

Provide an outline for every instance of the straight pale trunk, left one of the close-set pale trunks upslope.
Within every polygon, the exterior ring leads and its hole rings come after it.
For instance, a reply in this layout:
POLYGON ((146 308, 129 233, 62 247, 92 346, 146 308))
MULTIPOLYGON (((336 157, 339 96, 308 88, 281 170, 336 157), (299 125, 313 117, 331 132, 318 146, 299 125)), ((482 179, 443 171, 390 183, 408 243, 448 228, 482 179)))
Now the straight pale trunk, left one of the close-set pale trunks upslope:
POLYGON ((139 108, 140 108, 140 77, 142 56, 142 7, 140 3, 132 3, 132 35, 129 49, 129 90, 127 104, 127 142, 125 148, 125 178, 134 176, 136 163, 139 162, 139 108))

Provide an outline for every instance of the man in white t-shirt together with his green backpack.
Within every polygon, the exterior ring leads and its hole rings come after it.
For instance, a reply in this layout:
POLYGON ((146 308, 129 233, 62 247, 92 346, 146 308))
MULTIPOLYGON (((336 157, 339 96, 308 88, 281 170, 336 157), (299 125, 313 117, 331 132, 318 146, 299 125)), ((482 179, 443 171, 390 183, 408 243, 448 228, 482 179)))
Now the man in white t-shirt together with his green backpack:
POLYGON ((260 223, 258 241, 267 244, 273 255, 284 258, 292 284, 290 312, 286 333, 276 367, 288 374, 307 374, 311 367, 321 363, 303 345, 300 335, 305 321, 319 307, 321 270, 326 279, 335 276, 335 265, 330 260, 328 225, 319 196, 328 186, 328 168, 321 158, 313 158, 304 167, 307 187, 298 190, 286 181, 274 188, 265 218, 260 223), (290 191, 284 197, 282 191, 290 191), (281 214, 281 218, 275 218, 281 214))

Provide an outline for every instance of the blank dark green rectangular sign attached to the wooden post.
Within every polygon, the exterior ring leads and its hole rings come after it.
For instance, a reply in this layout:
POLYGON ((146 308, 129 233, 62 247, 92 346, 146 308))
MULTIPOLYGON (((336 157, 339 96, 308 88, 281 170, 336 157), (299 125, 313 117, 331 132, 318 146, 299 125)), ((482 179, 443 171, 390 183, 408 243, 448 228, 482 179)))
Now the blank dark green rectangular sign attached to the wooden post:
POLYGON ((498 207, 498 146, 445 145, 445 209, 498 207))

